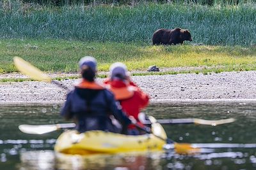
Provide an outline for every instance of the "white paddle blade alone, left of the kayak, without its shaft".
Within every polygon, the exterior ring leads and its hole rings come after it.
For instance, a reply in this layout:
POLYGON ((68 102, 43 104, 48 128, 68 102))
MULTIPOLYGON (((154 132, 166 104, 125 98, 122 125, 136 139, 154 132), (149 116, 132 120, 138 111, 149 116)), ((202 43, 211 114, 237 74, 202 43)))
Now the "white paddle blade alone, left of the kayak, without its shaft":
POLYGON ((58 125, 19 125, 19 129, 26 134, 46 134, 56 131, 58 125))

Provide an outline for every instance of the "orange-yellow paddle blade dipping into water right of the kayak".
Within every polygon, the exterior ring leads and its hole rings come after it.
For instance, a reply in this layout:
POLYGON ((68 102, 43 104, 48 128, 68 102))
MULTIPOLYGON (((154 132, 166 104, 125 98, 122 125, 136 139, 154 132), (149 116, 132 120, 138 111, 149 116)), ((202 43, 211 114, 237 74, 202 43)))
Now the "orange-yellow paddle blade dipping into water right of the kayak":
POLYGON ((200 152, 200 148, 195 148, 189 143, 174 143, 174 150, 179 154, 193 154, 200 152))

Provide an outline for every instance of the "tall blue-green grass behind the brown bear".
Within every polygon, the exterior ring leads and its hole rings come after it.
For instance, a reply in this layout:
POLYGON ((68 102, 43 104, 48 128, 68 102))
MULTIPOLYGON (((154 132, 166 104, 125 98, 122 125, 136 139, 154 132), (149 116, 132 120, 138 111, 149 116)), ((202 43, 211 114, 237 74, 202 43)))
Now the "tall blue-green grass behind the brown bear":
POLYGON ((141 41, 159 28, 189 29, 194 44, 256 45, 256 3, 237 6, 141 4, 138 6, 0 5, 0 38, 141 41))

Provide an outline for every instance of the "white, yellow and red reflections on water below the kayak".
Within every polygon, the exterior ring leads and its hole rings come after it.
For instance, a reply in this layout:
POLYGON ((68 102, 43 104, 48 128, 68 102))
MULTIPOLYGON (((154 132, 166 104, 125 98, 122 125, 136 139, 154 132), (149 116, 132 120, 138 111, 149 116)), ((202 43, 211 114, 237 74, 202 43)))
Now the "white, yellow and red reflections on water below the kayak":
POLYGON ((22 152, 21 169, 157 169, 162 152, 88 156, 64 155, 53 151, 22 152))

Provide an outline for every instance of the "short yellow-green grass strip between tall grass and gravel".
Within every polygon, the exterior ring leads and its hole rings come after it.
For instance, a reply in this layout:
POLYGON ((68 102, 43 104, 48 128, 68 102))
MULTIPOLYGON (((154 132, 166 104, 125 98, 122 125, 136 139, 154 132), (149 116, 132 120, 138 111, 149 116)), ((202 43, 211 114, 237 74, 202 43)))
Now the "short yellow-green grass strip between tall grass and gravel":
POLYGON ((154 64, 158 67, 216 66, 218 70, 207 69, 214 72, 256 68, 253 46, 152 46, 147 43, 2 39, 0 73, 17 71, 12 62, 14 56, 28 60, 43 71, 76 72, 78 60, 85 55, 97 58, 99 71, 108 71, 110 64, 116 61, 127 64, 129 70, 144 71, 154 64))

